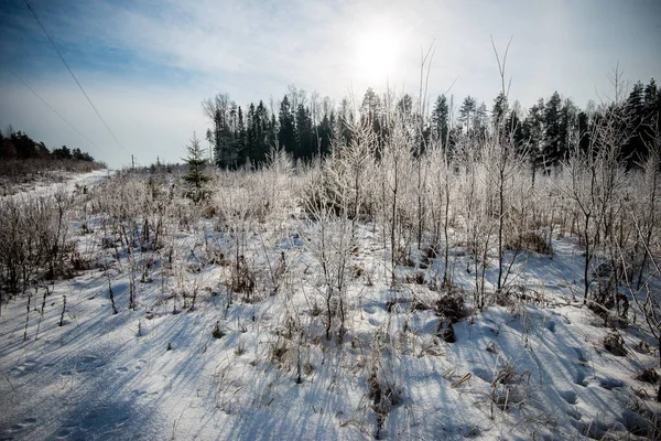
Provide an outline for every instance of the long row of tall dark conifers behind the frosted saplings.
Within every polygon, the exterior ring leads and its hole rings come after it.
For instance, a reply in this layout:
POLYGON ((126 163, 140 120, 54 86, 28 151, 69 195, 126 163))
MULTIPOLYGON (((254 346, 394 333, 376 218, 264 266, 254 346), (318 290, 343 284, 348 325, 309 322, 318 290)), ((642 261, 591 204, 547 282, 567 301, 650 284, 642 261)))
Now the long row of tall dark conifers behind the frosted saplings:
MULTIPOLYGON (((620 160, 631 168, 648 155, 653 129, 660 123, 661 94, 652 78, 647 85, 636 83, 624 100, 624 105, 617 103, 621 121, 628 128, 620 160)), ((308 97, 293 86, 278 106, 271 101, 269 108, 260 100, 243 110, 227 94, 203 101, 203 111, 212 123, 206 138, 214 162, 223 169, 259 166, 275 147, 295 160, 326 155, 333 139, 350 142, 348 127, 358 121, 367 121, 378 146, 382 146, 393 118, 403 118, 414 131, 419 153, 431 142, 452 150, 462 136, 484 137, 500 127, 499 121, 505 121, 517 144, 527 150, 532 169, 550 171, 568 158, 573 146, 587 149, 596 122, 610 110, 594 104, 581 109, 557 92, 540 98, 528 110, 518 101, 508 103, 502 94, 494 99, 490 109, 472 96, 454 103, 453 97, 445 95, 440 95, 429 107, 421 106, 411 95, 395 99, 371 88, 359 105, 345 98, 335 106, 328 97, 319 98, 316 93, 308 97)))

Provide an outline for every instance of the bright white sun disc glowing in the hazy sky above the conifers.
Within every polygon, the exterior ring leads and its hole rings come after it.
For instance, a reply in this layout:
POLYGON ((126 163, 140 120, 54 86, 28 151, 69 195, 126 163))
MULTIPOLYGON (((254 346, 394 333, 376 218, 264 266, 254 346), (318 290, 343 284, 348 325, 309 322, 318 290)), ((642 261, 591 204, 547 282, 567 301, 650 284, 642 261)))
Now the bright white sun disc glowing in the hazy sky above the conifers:
POLYGON ((379 24, 366 29, 356 39, 357 75, 370 82, 388 78, 395 68, 398 46, 392 28, 379 24))

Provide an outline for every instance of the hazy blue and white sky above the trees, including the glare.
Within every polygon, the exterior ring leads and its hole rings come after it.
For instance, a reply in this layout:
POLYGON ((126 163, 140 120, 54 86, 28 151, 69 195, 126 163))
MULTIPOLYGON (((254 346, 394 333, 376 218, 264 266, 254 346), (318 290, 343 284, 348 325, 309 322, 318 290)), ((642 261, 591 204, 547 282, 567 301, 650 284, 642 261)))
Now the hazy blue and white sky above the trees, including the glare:
MULTIPOLYGON (((110 131, 23 0, 0 0, 0 129, 48 148, 80 148, 111 168, 177 162, 210 126, 201 103, 227 93, 275 105, 290 85, 335 103, 367 87, 418 96, 500 92, 491 36, 511 39, 510 100, 527 108, 557 90, 581 107, 629 82, 661 82, 657 0, 29 0, 110 131), (37 98, 25 83, 74 128, 37 98)), ((206 141, 205 141, 206 142, 206 141)))

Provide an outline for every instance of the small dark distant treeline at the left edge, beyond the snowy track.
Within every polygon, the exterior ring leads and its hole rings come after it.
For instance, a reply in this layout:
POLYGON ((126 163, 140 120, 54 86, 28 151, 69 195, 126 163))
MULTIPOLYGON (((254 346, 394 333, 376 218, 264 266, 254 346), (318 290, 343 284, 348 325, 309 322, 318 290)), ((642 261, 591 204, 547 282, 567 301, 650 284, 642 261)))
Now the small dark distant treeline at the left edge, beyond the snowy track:
POLYGON ((36 142, 22 131, 14 131, 11 126, 6 132, 0 132, 0 159, 2 160, 75 160, 93 162, 94 158, 80 149, 69 149, 66 146, 52 151, 43 141, 36 142))

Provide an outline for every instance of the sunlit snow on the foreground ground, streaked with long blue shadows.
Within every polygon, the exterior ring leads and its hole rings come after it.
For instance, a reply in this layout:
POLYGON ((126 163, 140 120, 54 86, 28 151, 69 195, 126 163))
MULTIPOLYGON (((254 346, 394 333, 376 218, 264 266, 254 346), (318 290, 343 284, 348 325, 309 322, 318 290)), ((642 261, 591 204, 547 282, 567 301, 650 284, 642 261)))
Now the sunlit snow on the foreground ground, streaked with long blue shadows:
MULTIPOLYGON (((93 185, 104 173, 75 183, 93 185)), ((454 325, 456 342, 445 343, 436 336, 434 311, 412 308, 414 301, 433 304, 438 292, 416 283, 391 288, 383 244, 364 225, 354 262, 364 273, 350 282, 348 331, 338 343, 323 337, 322 318, 313 313, 318 272, 297 222, 257 229, 248 240, 261 256, 252 261, 258 279, 268 279, 268 267, 285 256, 284 281, 273 295, 264 288, 228 304, 229 269, 199 263, 199 234, 182 232, 178 248, 195 252, 178 269, 156 265, 151 281, 138 283, 136 311, 128 309, 126 262, 57 281, 45 298, 40 287, 30 300, 2 305, 0 439, 650 437, 646 419, 661 408, 646 398, 655 387, 635 377, 658 365, 658 354, 637 349, 639 342, 657 346, 639 322, 618 330, 628 355, 604 348, 610 330, 582 305, 581 294, 572 301, 583 271, 573 238, 553 241, 553 259, 528 256, 517 263, 520 283, 540 298, 473 310, 454 325), (306 330, 305 336, 292 329, 306 330), (397 397, 381 430, 370 397, 373 372, 397 397)), ((227 239, 205 234, 219 244, 227 239)), ((86 240, 94 239, 80 236, 86 240)), ((452 260, 454 280, 470 305, 473 275, 462 255, 452 260)), ((441 263, 426 270, 427 281, 441 263)), ((495 276, 491 266, 487 280, 495 276)))

